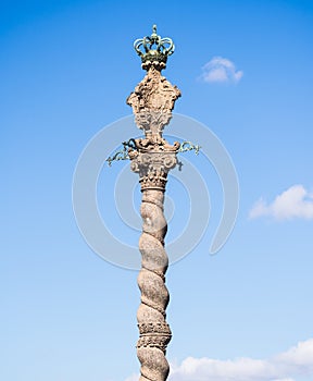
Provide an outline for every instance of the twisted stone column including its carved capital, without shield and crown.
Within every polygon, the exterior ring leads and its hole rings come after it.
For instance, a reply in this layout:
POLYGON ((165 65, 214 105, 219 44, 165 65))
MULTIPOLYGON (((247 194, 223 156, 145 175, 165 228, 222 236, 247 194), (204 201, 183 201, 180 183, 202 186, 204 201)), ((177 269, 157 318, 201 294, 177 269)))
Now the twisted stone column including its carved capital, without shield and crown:
POLYGON ((142 192, 142 234, 139 239, 142 269, 138 275, 141 304, 137 312, 140 337, 137 355, 141 362, 140 381, 164 381, 170 370, 165 354, 172 333, 165 320, 170 295, 165 286, 168 258, 164 249, 167 223, 163 205, 167 173, 176 165, 174 150, 179 145, 168 146, 172 151, 142 152, 139 149, 141 140, 135 142, 138 150, 130 150, 129 156, 132 170, 139 173, 142 192))

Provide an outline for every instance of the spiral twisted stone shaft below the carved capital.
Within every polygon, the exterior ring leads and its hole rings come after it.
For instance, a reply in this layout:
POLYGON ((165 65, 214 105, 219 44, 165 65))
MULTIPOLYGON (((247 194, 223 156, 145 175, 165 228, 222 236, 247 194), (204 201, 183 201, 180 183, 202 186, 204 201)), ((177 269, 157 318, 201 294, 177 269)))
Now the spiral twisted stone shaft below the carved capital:
POLYGON ((137 355, 141 362, 140 381, 166 380, 170 371, 165 358, 171 330, 165 321, 168 292, 165 286, 165 272, 168 266, 164 250, 164 236, 167 224, 163 214, 164 193, 160 189, 146 189, 142 193, 142 234, 139 250, 142 269, 138 275, 141 304, 137 312, 140 337, 137 355))

